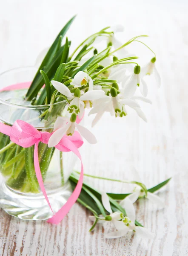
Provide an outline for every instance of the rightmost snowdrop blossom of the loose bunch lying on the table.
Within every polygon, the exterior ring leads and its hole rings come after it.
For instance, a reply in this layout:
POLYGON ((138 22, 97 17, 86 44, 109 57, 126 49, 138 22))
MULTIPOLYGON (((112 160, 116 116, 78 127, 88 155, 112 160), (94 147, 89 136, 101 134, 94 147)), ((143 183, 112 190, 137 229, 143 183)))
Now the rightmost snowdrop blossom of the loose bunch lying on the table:
MULTIPOLYGON (((137 177, 136 178, 137 181, 142 183, 137 170, 133 166, 132 166, 131 169, 132 169, 131 172, 134 173, 135 176, 137 177)), ((131 202, 134 204, 134 202, 136 202, 139 197, 144 197, 144 196, 145 196, 145 192, 141 189, 140 186, 136 185, 134 190, 131 191, 131 194, 128 195, 127 198, 129 198, 131 200, 131 202)), ((148 198, 148 200, 150 200, 154 204, 157 204, 160 207, 165 207, 164 202, 162 201, 162 199, 159 196, 148 192, 147 193, 147 198, 148 198)), ((121 202, 120 204, 122 205, 123 203, 121 202)))

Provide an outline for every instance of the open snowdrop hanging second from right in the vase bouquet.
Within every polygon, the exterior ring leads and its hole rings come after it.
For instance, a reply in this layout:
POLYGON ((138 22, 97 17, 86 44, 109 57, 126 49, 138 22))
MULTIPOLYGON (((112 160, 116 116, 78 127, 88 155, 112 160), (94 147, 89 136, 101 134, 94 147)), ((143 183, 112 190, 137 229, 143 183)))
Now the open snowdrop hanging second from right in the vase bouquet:
POLYGON ((137 86, 140 87, 140 92, 144 97, 148 95, 148 87, 146 82, 144 81, 143 77, 140 76, 140 66, 137 65, 134 67, 134 74, 130 76, 128 81, 125 81, 122 86, 126 90, 126 95, 131 97, 137 90, 137 86))

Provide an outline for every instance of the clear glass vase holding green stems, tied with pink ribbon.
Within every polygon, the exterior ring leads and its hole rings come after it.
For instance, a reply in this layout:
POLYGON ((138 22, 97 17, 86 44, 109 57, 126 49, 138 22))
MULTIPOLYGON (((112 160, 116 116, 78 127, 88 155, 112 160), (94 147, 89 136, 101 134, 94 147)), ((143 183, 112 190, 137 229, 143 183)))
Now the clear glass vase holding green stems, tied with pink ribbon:
MULTIPOLYGON (((9 70, 0 75, 0 122, 13 125, 23 120, 39 131, 53 131, 57 116, 62 114, 66 102, 33 106, 24 100, 27 89, 5 90, 12 84, 32 81, 36 68, 9 70)), ((39 163, 44 186, 54 212, 57 212, 70 196, 68 177, 76 157, 72 152, 60 152, 56 148, 39 143, 39 163)), ((45 220, 52 216, 34 170, 34 146, 22 148, 0 133, 0 207, 7 213, 25 220, 45 220)))

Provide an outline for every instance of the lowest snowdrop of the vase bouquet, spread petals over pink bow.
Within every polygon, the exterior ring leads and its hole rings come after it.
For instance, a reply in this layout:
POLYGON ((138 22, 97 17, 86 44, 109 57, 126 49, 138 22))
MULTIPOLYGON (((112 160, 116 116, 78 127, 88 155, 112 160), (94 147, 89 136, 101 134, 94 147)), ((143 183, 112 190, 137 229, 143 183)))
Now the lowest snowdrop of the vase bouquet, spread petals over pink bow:
POLYGON ((70 120, 66 117, 58 116, 56 122, 54 123, 54 133, 51 135, 48 141, 48 147, 56 146, 63 136, 66 134, 72 136, 74 134, 75 128, 80 132, 80 134, 88 141, 90 144, 97 143, 95 136, 87 128, 76 123, 77 115, 75 113, 71 114, 70 120))

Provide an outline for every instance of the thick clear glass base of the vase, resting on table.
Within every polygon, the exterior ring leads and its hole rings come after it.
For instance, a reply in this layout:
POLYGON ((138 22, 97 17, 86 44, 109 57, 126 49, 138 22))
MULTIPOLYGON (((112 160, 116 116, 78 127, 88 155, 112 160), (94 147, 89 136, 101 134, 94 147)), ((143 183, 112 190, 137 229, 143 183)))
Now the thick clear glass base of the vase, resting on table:
MULTIPOLYGON (((47 193, 51 207, 57 212, 71 195, 70 184, 47 193)), ((22 220, 42 221, 52 217, 52 212, 43 194, 23 194, 0 184, 0 207, 9 215, 22 220)))

